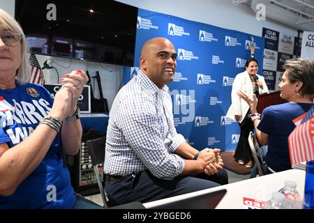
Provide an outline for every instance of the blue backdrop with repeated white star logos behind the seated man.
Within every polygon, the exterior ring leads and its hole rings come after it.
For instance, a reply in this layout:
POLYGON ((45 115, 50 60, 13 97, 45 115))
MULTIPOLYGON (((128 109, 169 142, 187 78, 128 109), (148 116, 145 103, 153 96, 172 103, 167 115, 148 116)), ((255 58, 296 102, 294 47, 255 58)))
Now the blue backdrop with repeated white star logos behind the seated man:
MULTIPOLYGON (((252 35, 139 9, 134 67, 125 68, 124 84, 137 74, 142 45, 154 37, 168 38, 178 54, 174 82, 168 85, 177 132, 199 150, 234 150, 239 125, 225 114, 233 79, 251 56, 252 35)), ((262 72, 264 38, 253 39, 262 72)))

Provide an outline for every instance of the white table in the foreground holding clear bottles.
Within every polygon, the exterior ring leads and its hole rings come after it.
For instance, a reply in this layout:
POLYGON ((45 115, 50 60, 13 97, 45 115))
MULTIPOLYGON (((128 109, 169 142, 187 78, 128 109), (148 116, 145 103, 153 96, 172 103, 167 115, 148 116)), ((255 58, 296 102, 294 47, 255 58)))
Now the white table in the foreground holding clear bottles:
POLYGON ((305 174, 306 171, 290 169, 276 174, 269 174, 266 176, 242 180, 237 183, 230 183, 206 190, 182 194, 176 197, 151 201, 143 203, 143 205, 145 208, 155 208, 165 203, 180 201, 182 199, 195 197, 200 194, 226 189, 227 193, 220 203, 218 203, 216 209, 243 209, 245 208, 243 199, 244 197, 260 201, 269 201, 269 199, 271 199, 271 192, 280 190, 284 186, 285 180, 293 180, 297 183, 297 191, 303 199, 305 174))

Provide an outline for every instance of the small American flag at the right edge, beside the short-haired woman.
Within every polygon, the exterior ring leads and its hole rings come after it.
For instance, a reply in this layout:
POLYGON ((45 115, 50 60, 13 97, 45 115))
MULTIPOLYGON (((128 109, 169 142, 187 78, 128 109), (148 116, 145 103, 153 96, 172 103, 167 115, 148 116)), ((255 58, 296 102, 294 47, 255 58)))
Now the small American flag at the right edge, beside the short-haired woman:
POLYGON ((314 160, 314 105, 303 114, 302 120, 294 119, 299 123, 288 137, 291 164, 314 160))

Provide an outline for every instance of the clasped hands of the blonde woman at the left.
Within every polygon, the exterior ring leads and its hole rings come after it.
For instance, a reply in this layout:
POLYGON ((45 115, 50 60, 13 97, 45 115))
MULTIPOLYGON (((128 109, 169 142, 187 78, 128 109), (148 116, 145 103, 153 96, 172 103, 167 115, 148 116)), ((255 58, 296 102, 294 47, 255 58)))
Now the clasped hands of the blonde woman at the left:
POLYGON ((54 95, 54 104, 50 110, 50 116, 63 121, 66 117, 75 114, 77 100, 82 94, 88 77, 84 71, 75 69, 64 75, 60 80, 62 87, 54 95))

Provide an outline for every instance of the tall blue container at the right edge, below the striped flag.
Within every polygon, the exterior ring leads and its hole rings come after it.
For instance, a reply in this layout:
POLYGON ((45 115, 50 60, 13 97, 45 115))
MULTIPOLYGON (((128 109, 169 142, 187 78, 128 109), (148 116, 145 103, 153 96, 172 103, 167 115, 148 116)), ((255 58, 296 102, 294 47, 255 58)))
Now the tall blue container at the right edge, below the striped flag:
POLYGON ((306 163, 306 181, 304 187, 304 209, 314 209, 314 161, 306 163))

